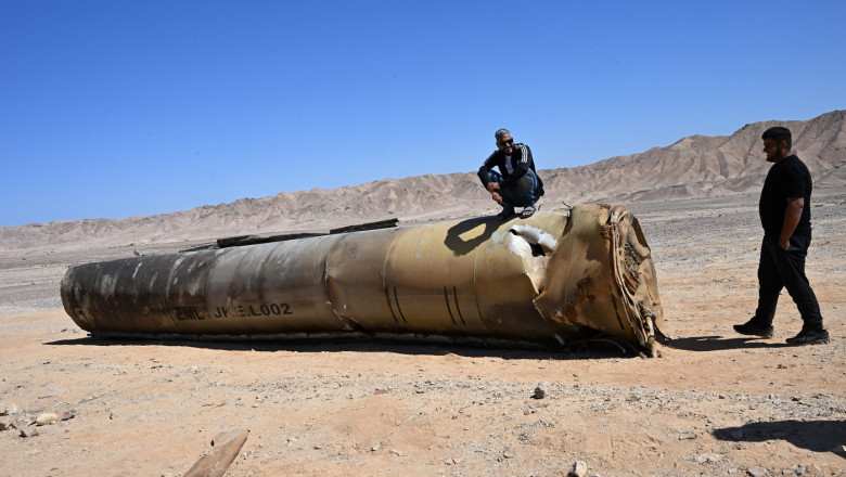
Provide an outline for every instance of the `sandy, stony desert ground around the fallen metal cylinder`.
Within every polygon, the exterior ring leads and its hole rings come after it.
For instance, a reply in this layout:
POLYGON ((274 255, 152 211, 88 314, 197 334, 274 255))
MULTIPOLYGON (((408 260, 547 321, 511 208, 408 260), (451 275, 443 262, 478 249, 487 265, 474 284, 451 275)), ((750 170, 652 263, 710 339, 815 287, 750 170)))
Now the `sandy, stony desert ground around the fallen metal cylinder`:
POLYGON ((731 331, 755 308, 756 203, 631 206, 674 338, 657 359, 93 339, 61 309, 59 281, 136 246, 2 252, 0 413, 15 413, 0 416, 0 476, 179 476, 240 428, 249 437, 227 476, 563 476, 576 461, 598 476, 846 475, 846 192, 815 191, 822 346, 784 345, 802 325, 786 295, 773 338, 731 331), (44 412, 73 417, 29 425, 44 412))

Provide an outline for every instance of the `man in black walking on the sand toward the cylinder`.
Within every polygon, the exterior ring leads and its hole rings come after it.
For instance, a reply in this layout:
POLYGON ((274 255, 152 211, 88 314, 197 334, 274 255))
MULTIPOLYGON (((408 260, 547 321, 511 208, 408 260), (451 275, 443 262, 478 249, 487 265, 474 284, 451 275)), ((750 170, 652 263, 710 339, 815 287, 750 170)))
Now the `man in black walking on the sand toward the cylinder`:
POLYGON ((742 335, 772 337, 779 293, 787 288, 804 322, 799 334, 787 338, 787 344, 829 343, 820 305, 805 276, 805 257, 811 238, 810 172, 796 155, 791 154, 792 139, 787 128, 767 129, 761 139, 767 160, 773 165, 764 181, 758 203, 764 225, 758 262, 758 309, 749 321, 735 324, 734 331, 742 335))

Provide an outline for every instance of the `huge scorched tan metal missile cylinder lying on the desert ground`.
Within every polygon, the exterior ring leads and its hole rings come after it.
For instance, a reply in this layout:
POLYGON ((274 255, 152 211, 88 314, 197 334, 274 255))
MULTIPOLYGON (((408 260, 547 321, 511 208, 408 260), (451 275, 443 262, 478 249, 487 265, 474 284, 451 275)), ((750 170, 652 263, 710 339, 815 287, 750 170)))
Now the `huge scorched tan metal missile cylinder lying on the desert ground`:
POLYGON ((603 205, 87 263, 61 292, 100 335, 561 346, 601 332, 654 354, 663 326, 643 233, 625 207, 603 205))

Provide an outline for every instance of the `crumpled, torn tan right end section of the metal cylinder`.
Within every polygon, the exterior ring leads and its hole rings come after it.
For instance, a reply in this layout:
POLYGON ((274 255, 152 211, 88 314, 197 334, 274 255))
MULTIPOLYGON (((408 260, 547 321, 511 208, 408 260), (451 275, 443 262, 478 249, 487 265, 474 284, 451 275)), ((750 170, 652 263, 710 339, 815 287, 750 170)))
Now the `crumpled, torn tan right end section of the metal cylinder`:
POLYGON ((664 312, 652 255, 624 206, 579 206, 550 257, 538 311, 655 353, 664 312))

